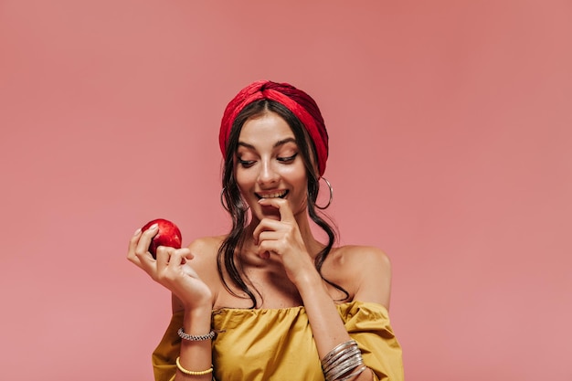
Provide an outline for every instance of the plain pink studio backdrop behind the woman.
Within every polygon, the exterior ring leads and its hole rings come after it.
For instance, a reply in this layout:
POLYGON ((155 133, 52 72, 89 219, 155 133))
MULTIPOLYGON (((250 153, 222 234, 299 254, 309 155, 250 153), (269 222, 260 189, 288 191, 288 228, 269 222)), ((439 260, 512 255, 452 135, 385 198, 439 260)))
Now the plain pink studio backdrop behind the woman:
POLYGON ((407 379, 572 379, 571 50, 564 0, 1 1, 2 378, 152 378, 127 241, 226 231, 218 122, 273 79, 323 109, 342 243, 393 260, 407 379))

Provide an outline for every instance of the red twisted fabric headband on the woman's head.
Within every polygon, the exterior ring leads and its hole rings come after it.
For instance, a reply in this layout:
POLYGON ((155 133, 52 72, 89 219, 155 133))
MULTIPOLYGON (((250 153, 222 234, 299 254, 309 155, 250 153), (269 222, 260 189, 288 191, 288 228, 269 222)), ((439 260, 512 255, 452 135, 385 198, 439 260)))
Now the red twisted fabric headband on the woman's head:
POLYGON ((228 103, 218 134, 218 143, 223 157, 227 157, 228 136, 240 111, 250 103, 264 99, 281 103, 302 122, 316 149, 318 171, 320 175, 323 175, 328 158, 328 133, 322 114, 312 97, 288 83, 259 80, 240 90, 237 96, 228 103), (306 107, 301 104, 302 102, 306 107))

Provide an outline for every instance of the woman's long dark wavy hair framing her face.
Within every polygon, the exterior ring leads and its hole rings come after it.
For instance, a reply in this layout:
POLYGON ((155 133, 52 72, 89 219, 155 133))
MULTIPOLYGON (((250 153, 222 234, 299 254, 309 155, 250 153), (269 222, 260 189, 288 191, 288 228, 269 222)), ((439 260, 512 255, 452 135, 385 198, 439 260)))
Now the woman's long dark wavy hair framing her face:
MULTIPOLYGON (((238 184, 234 174, 234 160, 235 153, 238 149, 238 136, 242 130, 242 126, 250 118, 260 116, 266 112, 277 113, 291 127, 291 131, 293 132, 296 143, 298 144, 298 148, 300 149, 299 152, 302 156, 303 164, 306 168, 306 176, 308 179, 308 216, 318 227, 323 229, 328 237, 325 248, 315 257, 314 265, 324 281, 331 284, 335 289, 344 293, 345 296, 342 301, 347 300, 349 299, 349 293, 345 291, 341 286, 325 279, 322 275, 323 262, 328 257, 328 254, 333 248, 337 235, 335 229, 330 226, 330 224, 316 211, 315 202, 318 196, 318 191, 320 189, 320 178, 316 175, 314 169, 314 163, 317 163, 317 157, 312 140, 309 138, 308 133, 302 125, 302 122, 300 122, 300 120, 288 108, 277 101, 270 101, 265 99, 254 101, 245 107, 233 122, 232 129, 228 136, 227 157, 225 157, 223 166, 222 186, 223 196, 228 206, 228 213, 232 219, 232 228, 228 233, 227 238, 224 239, 217 253, 217 270, 220 279, 229 292, 235 296, 238 296, 238 294, 229 287, 228 280, 223 269, 226 270, 226 274, 228 274, 228 278, 232 284, 238 287, 239 290, 244 291, 252 301, 252 306, 250 308, 256 308, 257 299, 254 293, 256 290, 252 291, 250 289, 249 285, 244 279, 246 276, 244 275, 241 263, 235 260, 235 253, 237 250, 242 249, 245 241, 245 230, 249 224, 249 214, 248 205, 240 195, 240 190, 238 189, 238 184)), ((259 291, 256 291, 256 293, 260 295, 259 291)))

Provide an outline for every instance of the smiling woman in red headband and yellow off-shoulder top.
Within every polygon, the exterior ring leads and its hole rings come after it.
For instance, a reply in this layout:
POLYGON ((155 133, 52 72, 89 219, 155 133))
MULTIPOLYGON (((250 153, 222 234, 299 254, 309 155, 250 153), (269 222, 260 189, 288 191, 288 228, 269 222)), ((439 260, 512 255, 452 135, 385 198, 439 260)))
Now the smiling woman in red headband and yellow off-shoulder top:
POLYGON ((148 252, 156 227, 130 241, 128 259, 173 294, 155 379, 402 380, 387 256, 334 247, 334 229, 316 211, 319 184, 332 201, 316 103, 289 84, 254 82, 228 104, 219 143, 230 233, 160 247, 156 260, 148 252))

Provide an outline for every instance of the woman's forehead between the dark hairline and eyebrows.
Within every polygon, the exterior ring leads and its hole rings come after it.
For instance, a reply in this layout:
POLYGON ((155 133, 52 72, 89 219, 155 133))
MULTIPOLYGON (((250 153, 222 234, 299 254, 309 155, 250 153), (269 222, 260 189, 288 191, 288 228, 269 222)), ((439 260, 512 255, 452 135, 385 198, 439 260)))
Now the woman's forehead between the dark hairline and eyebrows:
POLYGON ((252 145, 271 145, 287 138, 295 138, 290 125, 277 113, 266 112, 244 123, 238 141, 252 145))

